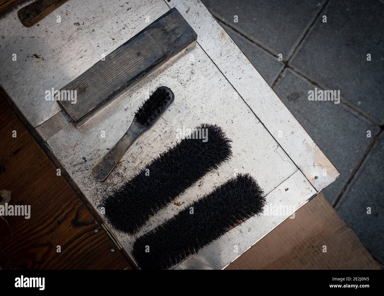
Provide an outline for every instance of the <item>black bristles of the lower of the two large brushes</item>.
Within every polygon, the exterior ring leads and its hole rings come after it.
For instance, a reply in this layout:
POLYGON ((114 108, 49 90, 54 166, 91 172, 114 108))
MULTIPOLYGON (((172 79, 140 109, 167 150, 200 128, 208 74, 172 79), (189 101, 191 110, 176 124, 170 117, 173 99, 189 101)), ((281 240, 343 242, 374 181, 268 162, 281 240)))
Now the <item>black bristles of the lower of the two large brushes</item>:
POLYGON ((142 269, 168 269, 250 217, 260 215, 265 204, 264 192, 255 179, 239 174, 139 237, 132 255, 142 269))

